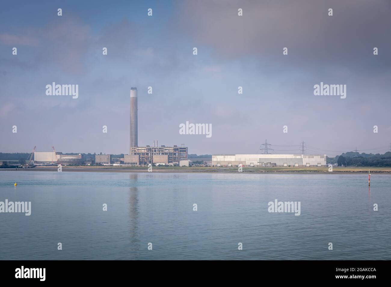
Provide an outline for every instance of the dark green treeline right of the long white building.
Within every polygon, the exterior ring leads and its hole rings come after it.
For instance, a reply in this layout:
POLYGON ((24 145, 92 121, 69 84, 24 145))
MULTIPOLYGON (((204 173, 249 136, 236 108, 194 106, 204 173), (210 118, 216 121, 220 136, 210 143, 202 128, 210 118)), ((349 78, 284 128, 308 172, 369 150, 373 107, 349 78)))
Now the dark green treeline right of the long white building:
POLYGON ((335 158, 327 158, 328 164, 337 163, 339 166, 391 166, 391 152, 384 154, 347 152, 335 158))

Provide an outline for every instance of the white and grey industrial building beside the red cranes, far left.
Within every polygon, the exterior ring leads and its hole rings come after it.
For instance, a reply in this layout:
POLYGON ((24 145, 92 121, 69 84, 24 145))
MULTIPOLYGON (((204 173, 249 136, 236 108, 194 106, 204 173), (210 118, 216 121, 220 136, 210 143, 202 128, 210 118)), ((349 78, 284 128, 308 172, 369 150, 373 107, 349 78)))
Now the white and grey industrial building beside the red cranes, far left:
POLYGON ((81 153, 77 155, 68 155, 61 152, 34 152, 34 164, 61 164, 63 166, 79 166, 81 165, 81 153))

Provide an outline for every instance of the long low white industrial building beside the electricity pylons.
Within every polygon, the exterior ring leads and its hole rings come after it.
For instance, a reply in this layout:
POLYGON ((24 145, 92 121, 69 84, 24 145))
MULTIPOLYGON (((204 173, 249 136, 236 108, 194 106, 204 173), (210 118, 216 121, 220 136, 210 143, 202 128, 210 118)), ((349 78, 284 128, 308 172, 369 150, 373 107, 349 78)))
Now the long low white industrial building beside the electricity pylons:
POLYGON ((326 166, 326 155, 212 155, 212 166, 326 166))

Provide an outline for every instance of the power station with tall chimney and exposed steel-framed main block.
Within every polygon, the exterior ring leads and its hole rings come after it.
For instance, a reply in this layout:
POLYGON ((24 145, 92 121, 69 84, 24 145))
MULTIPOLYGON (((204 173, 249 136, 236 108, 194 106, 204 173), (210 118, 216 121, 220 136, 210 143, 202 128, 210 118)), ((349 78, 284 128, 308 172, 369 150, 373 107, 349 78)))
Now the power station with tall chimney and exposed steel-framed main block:
POLYGON ((138 146, 138 117, 137 117, 137 88, 130 89, 130 149, 129 155, 124 155, 124 164, 139 166, 148 164, 169 164, 187 160, 187 147, 158 146, 158 141, 153 146, 138 146))

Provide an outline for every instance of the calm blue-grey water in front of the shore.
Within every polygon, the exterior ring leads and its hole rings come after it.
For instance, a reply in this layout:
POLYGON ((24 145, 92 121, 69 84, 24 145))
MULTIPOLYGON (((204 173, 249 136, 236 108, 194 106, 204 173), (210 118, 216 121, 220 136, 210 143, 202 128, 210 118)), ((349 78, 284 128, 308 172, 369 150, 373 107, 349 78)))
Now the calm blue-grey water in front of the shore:
POLYGON ((0 201, 32 205, 0 213, 0 259, 391 259, 390 187, 376 174, 369 192, 365 174, 0 171, 0 201), (301 215, 269 213, 275 199, 301 215))

